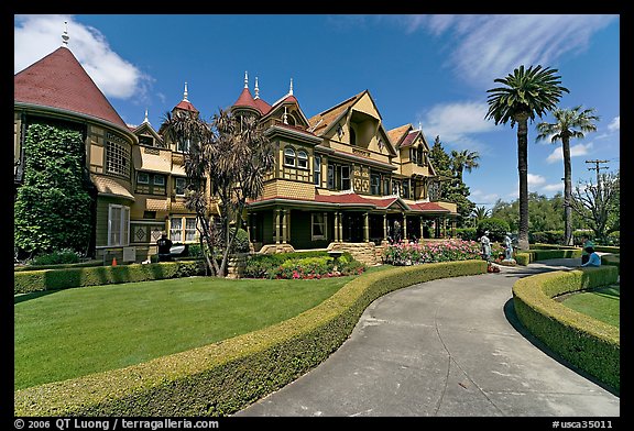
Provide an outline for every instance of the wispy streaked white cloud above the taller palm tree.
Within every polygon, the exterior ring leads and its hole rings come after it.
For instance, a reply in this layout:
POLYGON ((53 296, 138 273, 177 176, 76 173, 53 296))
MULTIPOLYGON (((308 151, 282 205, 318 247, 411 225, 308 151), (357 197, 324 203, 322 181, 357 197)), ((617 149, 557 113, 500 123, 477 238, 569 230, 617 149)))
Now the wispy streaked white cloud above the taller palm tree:
POLYGON ((482 86, 505 77, 524 64, 548 65, 567 53, 583 51, 592 34, 619 15, 401 15, 408 32, 424 29, 440 36, 450 33, 447 66, 466 81, 482 86), (493 36, 494 35, 494 36, 493 36))

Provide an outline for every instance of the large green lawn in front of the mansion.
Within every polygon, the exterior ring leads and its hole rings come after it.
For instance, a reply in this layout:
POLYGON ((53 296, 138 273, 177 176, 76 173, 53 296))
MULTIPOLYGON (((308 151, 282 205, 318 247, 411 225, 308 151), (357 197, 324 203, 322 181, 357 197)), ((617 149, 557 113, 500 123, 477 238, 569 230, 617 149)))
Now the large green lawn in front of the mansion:
POLYGON ((14 389, 121 368, 269 327, 317 306, 352 278, 192 277, 17 296, 14 389))

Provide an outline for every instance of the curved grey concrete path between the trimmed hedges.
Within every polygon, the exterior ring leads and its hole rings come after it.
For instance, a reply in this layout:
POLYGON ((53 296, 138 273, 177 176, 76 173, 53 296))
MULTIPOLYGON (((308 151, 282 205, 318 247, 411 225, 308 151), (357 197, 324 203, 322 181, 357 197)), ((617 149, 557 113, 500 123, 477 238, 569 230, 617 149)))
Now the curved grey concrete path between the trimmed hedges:
POLYGON ((521 277, 551 259, 418 284, 376 299, 323 364, 237 417, 619 417, 620 397, 517 324, 521 277))

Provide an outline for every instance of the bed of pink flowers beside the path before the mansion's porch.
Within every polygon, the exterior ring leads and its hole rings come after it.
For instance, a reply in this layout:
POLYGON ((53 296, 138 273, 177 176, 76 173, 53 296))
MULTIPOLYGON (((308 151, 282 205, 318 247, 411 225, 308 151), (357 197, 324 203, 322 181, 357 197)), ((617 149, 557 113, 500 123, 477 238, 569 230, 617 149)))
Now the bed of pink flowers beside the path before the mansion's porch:
MULTIPOLYGON (((491 256, 504 253, 498 243, 491 244, 491 256)), ((394 266, 419 265, 436 262, 480 259, 481 247, 476 241, 448 240, 442 242, 411 242, 390 245, 383 251, 383 263, 394 266)))

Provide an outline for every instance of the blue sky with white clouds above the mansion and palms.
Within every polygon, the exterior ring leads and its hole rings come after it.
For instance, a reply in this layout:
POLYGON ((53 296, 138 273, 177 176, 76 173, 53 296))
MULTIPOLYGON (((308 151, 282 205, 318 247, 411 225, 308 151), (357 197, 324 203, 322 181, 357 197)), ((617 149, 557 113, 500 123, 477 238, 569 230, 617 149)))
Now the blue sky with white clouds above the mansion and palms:
MULTIPOLYGON (((487 90, 522 64, 558 69, 570 90, 560 108, 594 108, 598 131, 571 142, 572 181, 595 178, 594 165, 620 165, 620 16, 608 14, 315 15, 85 14, 15 15, 14 71, 68 47, 119 114, 155 129, 183 99, 209 119, 240 95, 273 103, 293 90, 310 118, 365 89, 386 130, 419 124, 447 153, 476 151, 464 173, 469 197, 491 207, 518 195, 516 129, 484 119, 487 90)), ((528 189, 561 192, 560 143, 535 142, 528 129, 528 189)))

